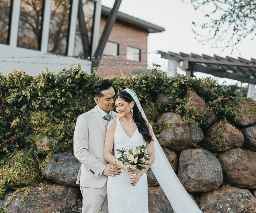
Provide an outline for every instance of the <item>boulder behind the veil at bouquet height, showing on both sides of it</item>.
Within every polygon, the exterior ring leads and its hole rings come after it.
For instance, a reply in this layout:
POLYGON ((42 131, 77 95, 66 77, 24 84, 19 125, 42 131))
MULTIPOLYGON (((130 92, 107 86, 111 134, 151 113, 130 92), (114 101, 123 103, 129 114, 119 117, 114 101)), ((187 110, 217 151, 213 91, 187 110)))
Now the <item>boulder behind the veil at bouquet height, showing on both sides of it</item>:
MULTIPOLYGON (((164 151, 164 154, 167 157, 169 163, 171 164, 173 170, 176 171, 178 168, 177 154, 174 151, 167 149, 167 148, 163 148, 163 151, 164 151)), ((151 169, 149 169, 147 171, 147 185, 148 186, 158 186, 159 185, 159 183, 151 169)))

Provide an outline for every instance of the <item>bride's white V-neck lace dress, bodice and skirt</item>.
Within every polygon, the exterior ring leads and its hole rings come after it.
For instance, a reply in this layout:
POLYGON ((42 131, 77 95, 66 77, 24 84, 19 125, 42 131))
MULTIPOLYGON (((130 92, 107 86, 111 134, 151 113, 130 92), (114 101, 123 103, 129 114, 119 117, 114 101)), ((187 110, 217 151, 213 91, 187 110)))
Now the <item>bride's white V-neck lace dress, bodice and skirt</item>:
MULTIPOLYGON (((136 129, 131 138, 124 132, 119 118, 116 119, 114 136, 116 158, 120 156, 116 149, 136 149, 136 147, 144 144, 144 139, 138 129, 136 129)), ((109 176, 107 179, 109 213, 148 213, 146 173, 140 177, 135 186, 132 186, 130 184, 130 174, 123 169, 121 171, 120 175, 109 176)))

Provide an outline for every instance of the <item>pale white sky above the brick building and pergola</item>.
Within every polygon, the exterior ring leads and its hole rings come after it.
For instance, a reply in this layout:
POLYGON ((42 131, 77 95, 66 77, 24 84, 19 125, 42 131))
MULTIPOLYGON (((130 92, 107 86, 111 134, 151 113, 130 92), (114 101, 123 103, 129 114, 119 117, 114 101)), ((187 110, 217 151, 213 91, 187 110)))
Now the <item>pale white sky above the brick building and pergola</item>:
MULTIPOLYGON (((115 0, 101 0, 101 4, 112 8, 115 0)), ((147 41, 147 64, 152 67, 153 63, 159 64, 163 71, 167 71, 168 60, 161 59, 160 54, 156 54, 157 50, 164 52, 183 52, 186 54, 226 56, 237 59, 238 57, 251 60, 256 59, 256 38, 245 39, 232 48, 222 50, 222 48, 213 48, 211 45, 203 45, 196 38, 192 31, 192 21, 202 23, 207 19, 201 10, 195 10, 192 4, 186 4, 181 0, 122 0, 119 12, 150 22, 152 24, 163 27, 165 31, 162 33, 150 33, 147 41)), ((206 10, 207 12, 207 10, 206 10)), ((200 32, 200 31, 199 31, 200 32)), ((179 74, 185 72, 178 70, 179 74)), ((211 75, 196 72, 197 78, 212 77, 211 75)), ((220 84, 240 84, 240 82, 229 79, 218 80, 220 84)), ((243 83, 242 86, 247 85, 243 83)), ((240 85, 239 85, 240 86, 240 85)))

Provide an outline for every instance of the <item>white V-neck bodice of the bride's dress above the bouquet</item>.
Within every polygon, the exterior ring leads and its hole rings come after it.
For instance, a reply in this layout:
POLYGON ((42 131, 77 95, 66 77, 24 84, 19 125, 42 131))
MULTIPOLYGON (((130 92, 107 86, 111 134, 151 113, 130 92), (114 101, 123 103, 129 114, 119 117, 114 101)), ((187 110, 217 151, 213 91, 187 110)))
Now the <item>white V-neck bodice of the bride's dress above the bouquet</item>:
POLYGON ((114 139, 115 156, 118 153, 116 149, 136 148, 136 147, 142 146, 145 143, 143 136, 139 133, 137 128, 133 133, 132 137, 129 137, 123 130, 123 127, 119 121, 119 118, 116 119, 116 129, 115 129, 114 137, 115 137, 114 139))

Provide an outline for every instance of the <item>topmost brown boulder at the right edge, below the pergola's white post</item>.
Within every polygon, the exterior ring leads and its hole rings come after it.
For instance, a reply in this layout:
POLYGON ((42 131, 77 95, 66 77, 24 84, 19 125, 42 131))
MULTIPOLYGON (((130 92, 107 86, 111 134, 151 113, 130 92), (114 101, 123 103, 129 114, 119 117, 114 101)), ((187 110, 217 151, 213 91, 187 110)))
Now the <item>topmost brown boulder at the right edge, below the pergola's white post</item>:
POLYGON ((238 115, 238 119, 235 116, 231 116, 229 120, 240 126, 248 126, 256 123, 256 102, 253 99, 242 98, 239 101, 240 109, 234 110, 234 115, 238 115))

